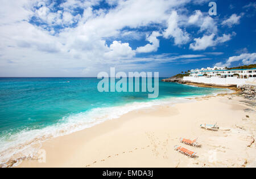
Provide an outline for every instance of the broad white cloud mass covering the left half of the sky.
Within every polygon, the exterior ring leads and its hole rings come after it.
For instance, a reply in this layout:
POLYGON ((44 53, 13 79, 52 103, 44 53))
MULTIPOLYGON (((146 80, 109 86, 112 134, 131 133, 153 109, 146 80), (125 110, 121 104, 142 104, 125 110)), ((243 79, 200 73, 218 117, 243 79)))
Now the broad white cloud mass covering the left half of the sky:
MULTIPOLYGON (((2 2, 1 75, 48 76, 60 73, 71 76, 70 72, 80 76, 79 70, 72 69, 82 69, 88 64, 92 66, 90 69, 93 66, 108 68, 115 59, 120 59, 116 65, 129 66, 131 62, 126 59, 134 58, 136 52, 123 41, 123 35, 141 38, 141 32, 137 33, 136 29, 152 23, 163 24, 170 16, 168 10, 184 5, 188 0, 112 1, 112 5, 117 6, 108 11, 93 10, 99 2, 72 0, 59 5, 48 0, 20 0, 15 4, 2 2), (57 6, 59 10, 56 10, 57 6), (77 14, 77 9, 83 13, 77 14), (135 30, 122 33, 124 28, 135 30), (114 37, 121 37, 122 42, 114 37), (106 45, 108 38, 113 38, 110 46, 106 45), (13 63, 10 64, 9 59, 13 63), (49 73, 50 68, 55 69, 54 72, 49 73)), ((158 46, 154 35, 148 37, 148 41, 154 48, 158 46)), ((96 71, 93 73, 91 75, 97 74, 96 71)))

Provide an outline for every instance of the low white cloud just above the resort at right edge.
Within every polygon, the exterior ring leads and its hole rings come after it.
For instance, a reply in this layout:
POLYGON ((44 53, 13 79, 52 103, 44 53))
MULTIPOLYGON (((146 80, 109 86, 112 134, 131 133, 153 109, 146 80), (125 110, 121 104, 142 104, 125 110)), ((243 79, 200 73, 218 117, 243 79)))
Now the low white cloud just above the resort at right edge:
POLYGON ((240 56, 229 57, 229 59, 222 63, 217 63, 216 66, 230 67, 233 62, 241 61, 243 65, 250 65, 256 63, 256 53, 243 53, 240 56))

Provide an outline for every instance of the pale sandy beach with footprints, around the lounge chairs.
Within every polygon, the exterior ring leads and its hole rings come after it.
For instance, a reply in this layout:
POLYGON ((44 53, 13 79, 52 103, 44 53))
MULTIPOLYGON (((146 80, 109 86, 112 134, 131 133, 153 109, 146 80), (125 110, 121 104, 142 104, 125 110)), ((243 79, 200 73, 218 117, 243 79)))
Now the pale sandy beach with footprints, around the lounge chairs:
POLYGON ((46 163, 25 160, 18 167, 256 167, 255 110, 255 101, 234 94, 136 110, 47 140, 46 163), (219 131, 200 128, 216 122, 219 131), (203 147, 180 144, 180 138, 198 138, 203 147), (197 157, 174 151, 175 145, 197 157))

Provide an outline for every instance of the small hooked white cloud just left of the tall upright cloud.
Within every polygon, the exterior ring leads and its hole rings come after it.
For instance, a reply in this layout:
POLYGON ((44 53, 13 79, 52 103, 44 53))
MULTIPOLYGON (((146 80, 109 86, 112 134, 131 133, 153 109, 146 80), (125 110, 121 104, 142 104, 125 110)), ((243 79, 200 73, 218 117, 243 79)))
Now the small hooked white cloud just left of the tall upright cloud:
POLYGON ((151 44, 147 44, 145 46, 140 46, 137 48, 138 53, 149 53, 149 52, 156 52, 159 48, 159 40, 157 37, 160 36, 159 32, 152 32, 152 34, 147 37, 147 41, 149 41, 151 44))

